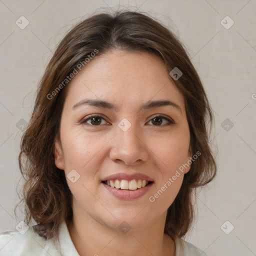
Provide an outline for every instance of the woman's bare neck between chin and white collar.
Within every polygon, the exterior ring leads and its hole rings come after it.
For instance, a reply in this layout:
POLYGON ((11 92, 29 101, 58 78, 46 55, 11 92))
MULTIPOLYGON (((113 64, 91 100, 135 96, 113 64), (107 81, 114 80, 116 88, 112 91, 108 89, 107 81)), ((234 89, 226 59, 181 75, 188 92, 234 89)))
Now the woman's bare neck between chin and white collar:
POLYGON ((174 256, 175 242, 163 233, 165 217, 166 214, 143 229, 122 233, 84 211, 82 217, 73 212, 73 221, 67 223, 67 228, 80 256, 174 256))

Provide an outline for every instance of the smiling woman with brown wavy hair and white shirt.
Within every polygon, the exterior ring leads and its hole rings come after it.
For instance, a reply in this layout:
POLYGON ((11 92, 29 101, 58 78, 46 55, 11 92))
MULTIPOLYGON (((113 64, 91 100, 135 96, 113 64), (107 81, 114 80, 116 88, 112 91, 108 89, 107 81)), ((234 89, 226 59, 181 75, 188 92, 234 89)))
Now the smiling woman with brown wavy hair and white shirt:
POLYGON ((216 172, 207 120, 171 31, 131 11, 83 20, 46 67, 21 141, 24 222, 38 224, 2 233, 0 255, 206 255, 181 237, 216 172))

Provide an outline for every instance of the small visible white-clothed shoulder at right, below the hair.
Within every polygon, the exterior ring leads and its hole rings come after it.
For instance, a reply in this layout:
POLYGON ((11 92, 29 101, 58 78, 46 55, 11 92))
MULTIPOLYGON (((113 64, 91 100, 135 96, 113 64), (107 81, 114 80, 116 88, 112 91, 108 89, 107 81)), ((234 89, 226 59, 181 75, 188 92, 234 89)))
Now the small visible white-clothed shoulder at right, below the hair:
POLYGON ((176 238, 176 256, 207 256, 205 252, 190 242, 176 238))

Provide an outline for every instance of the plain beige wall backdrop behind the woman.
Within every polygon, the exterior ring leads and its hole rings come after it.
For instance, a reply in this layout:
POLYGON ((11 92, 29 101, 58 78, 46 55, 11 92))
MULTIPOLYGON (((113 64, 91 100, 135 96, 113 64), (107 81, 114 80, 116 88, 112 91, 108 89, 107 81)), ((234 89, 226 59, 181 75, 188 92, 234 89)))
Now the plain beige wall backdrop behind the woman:
POLYGON ((208 256, 256 255, 255 0, 0 0, 0 232, 22 220, 13 211, 19 142, 57 43, 76 22, 119 5, 180 38, 214 111, 217 176, 197 195, 186 240, 208 256))

